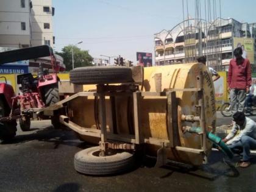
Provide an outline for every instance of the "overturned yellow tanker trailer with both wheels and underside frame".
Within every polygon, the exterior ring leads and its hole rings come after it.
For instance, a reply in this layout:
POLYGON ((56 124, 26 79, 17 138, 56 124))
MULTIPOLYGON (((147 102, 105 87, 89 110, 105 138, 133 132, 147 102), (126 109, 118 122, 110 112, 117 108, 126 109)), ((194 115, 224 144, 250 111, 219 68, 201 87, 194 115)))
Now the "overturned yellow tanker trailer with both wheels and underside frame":
POLYGON ((99 144, 75 155, 77 171, 126 171, 137 151, 157 157, 158 166, 168 160, 202 165, 207 159, 216 110, 212 76, 202 63, 76 68, 70 81, 59 85, 65 99, 44 115, 99 144), (193 127, 201 130, 188 131, 193 127))

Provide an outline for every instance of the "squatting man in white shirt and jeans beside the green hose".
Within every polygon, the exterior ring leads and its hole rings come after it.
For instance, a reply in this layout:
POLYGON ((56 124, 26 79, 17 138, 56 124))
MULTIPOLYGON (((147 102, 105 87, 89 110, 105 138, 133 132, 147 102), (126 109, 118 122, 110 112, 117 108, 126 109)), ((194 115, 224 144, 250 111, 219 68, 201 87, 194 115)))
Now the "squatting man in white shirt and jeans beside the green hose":
POLYGON ((228 144, 234 153, 243 153, 240 166, 246 168, 251 165, 250 149, 256 149, 256 123, 243 112, 234 113, 232 130, 222 141, 228 144))

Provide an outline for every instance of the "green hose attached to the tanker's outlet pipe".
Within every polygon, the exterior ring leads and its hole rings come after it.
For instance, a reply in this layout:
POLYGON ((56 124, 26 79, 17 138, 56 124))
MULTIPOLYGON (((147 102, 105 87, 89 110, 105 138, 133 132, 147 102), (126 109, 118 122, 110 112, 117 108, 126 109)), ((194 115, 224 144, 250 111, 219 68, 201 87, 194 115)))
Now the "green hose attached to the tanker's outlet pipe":
MULTIPOLYGON (((201 127, 190 127, 190 129, 187 130, 190 133, 202 133, 201 127)), ((213 142, 213 146, 216 147, 216 145, 221 149, 224 154, 227 155, 229 158, 233 158, 233 152, 229 149, 229 147, 221 140, 220 137, 214 135, 211 132, 206 132, 208 140, 213 142)))

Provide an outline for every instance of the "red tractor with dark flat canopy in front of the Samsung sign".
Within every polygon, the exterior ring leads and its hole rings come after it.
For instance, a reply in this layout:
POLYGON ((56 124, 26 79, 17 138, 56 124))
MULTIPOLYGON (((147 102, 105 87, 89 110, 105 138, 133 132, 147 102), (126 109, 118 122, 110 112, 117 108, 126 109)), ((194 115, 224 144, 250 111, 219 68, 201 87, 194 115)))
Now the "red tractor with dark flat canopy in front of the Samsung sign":
MULTIPOLYGON (((40 63, 36 77, 31 73, 18 75, 17 84, 22 94, 15 96, 13 87, 6 83, 6 79, 5 83, 0 83, 0 140, 15 137, 16 119, 20 119, 21 129, 27 131, 30 130, 30 118, 45 118, 43 108, 59 101, 59 78, 56 73, 60 70, 54 52, 47 45, 0 53, 0 65, 48 56, 51 57, 54 73, 49 74, 49 71, 43 70, 43 63, 40 63)), ((52 124, 55 124, 54 118, 52 124)))

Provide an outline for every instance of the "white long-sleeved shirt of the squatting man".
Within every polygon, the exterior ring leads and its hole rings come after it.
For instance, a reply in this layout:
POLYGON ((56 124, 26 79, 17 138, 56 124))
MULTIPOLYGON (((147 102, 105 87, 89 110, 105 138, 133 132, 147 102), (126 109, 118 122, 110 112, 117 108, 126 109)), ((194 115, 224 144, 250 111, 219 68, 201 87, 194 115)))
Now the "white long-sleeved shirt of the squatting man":
POLYGON ((238 126, 235 122, 233 122, 232 130, 226 137, 227 140, 230 139, 229 141, 227 141, 227 144, 240 141, 243 135, 247 135, 249 137, 256 139, 256 123, 254 122, 254 120, 246 117, 246 120, 243 126, 241 127, 238 126), (240 130, 240 133, 236 135, 238 130, 240 130))

